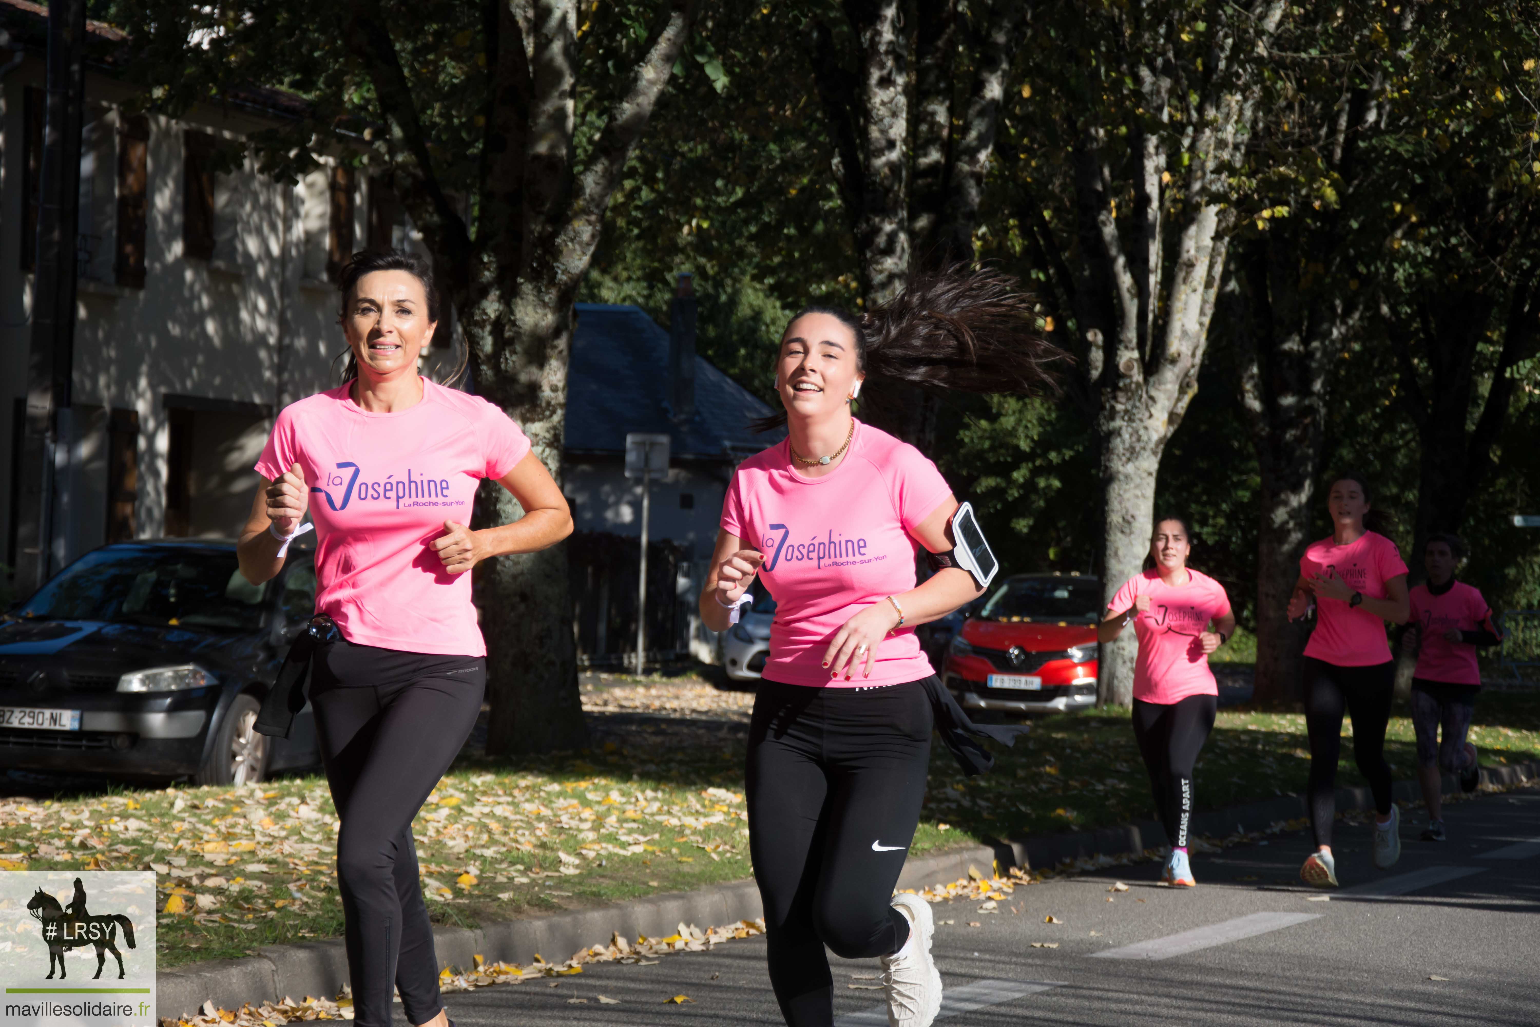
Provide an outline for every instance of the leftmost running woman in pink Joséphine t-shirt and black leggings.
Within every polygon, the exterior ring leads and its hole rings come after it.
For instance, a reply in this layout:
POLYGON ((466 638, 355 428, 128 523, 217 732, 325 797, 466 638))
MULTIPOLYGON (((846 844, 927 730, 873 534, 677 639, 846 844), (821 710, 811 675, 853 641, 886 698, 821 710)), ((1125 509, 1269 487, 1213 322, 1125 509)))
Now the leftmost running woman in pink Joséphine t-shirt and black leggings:
POLYGON ((265 582, 310 530, 305 514, 314 517, 317 616, 296 639, 257 728, 288 733, 303 705, 302 673, 288 671, 303 653, 342 822, 337 887, 354 1022, 390 1027, 399 992, 408 1022, 445 1027, 411 821, 480 711, 487 647, 467 571, 491 556, 544 550, 573 522, 502 410, 417 374, 439 323, 428 262, 365 249, 342 268, 339 286, 343 382, 279 413, 236 550, 246 580, 265 582), (471 531, 482 479, 507 488, 524 517, 471 531))

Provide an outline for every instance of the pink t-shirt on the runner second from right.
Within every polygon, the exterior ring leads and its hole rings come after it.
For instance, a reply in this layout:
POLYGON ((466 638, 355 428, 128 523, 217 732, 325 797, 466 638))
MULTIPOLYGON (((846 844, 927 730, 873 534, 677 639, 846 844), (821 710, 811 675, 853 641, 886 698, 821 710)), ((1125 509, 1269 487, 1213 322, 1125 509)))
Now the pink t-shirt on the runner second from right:
MULTIPOLYGON (((1384 599, 1389 594, 1384 582, 1406 573, 1395 542, 1375 531, 1364 531, 1348 545, 1337 545, 1331 539, 1312 542, 1300 557, 1300 573, 1304 577, 1321 577, 1329 567, 1366 599, 1384 599)), ((1311 631, 1304 654, 1337 667, 1384 664, 1391 659, 1384 621, 1363 607, 1349 607, 1346 599, 1317 596, 1315 630, 1311 631)))

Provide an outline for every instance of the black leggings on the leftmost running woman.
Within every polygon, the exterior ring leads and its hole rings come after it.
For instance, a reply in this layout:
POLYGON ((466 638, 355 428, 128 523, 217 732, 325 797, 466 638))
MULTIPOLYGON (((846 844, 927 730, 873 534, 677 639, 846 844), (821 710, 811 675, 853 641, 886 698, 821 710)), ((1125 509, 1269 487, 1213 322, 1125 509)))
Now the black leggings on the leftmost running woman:
POLYGON ((337 807, 337 887, 359 1027, 390 1027, 391 985, 413 1024, 439 1015, 439 961, 411 821, 470 738, 479 656, 337 641, 316 650, 310 699, 337 807))

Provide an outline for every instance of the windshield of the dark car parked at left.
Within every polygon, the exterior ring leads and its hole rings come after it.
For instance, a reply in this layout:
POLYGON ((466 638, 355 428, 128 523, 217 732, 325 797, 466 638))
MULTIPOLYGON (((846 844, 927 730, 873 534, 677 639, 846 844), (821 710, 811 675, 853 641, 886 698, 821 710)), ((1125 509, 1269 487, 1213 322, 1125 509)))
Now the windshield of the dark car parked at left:
POLYGON ((82 556, 11 616, 253 631, 265 594, 240 576, 234 550, 112 545, 82 556))

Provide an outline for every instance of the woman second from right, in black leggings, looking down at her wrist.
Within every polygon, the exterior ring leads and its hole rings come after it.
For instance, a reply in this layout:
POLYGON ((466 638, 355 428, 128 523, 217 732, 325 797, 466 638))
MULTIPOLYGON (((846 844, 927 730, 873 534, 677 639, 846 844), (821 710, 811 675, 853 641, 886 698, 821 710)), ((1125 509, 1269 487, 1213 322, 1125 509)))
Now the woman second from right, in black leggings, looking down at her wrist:
POLYGON ((1332 821, 1337 816, 1337 761, 1343 713, 1352 718, 1352 753, 1369 782, 1377 811, 1374 865, 1381 870, 1401 858, 1401 815, 1391 799, 1391 767, 1384 762, 1384 728, 1395 694, 1395 664, 1384 622, 1406 624, 1406 564, 1395 544, 1374 531, 1369 483, 1361 474, 1332 482, 1326 507, 1332 536, 1312 542, 1300 559, 1300 580, 1289 597, 1289 619, 1298 621, 1315 602, 1315 630, 1304 647, 1304 727, 1311 736, 1307 799, 1317 850, 1300 878, 1317 888, 1337 887, 1332 821))

